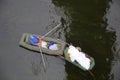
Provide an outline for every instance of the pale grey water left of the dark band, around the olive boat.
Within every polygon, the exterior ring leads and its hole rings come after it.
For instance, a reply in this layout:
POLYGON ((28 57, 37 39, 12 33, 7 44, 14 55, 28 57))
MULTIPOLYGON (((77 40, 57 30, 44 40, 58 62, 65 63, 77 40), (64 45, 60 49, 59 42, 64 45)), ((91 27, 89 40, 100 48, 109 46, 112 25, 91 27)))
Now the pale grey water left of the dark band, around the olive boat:
MULTIPOLYGON (((45 55, 47 70, 44 73, 40 54, 18 45, 22 33, 44 35, 60 22, 52 2, 3 0, 0 3, 0 80, 65 79, 65 62, 59 57, 45 55)), ((57 34, 52 36, 65 39, 64 35, 57 34)))

